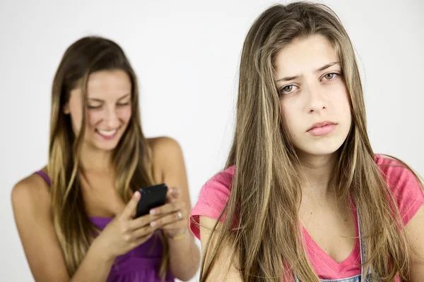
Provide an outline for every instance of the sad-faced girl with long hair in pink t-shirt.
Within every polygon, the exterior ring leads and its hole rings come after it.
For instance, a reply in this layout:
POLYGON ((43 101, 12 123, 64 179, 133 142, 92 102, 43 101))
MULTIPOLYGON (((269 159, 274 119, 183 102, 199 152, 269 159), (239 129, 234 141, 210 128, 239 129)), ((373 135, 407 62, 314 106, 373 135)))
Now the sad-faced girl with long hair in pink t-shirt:
POLYGON ((264 11, 238 91, 227 165, 192 209, 201 281, 422 281, 423 185, 372 151, 353 47, 331 9, 264 11))

